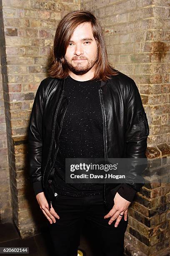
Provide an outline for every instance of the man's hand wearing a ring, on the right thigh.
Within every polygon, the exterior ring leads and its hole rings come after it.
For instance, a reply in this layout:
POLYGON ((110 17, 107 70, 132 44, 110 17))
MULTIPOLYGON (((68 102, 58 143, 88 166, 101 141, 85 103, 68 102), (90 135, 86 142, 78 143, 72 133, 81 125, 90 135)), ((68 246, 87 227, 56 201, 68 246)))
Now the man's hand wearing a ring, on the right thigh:
POLYGON ((128 200, 126 200, 125 198, 121 197, 118 192, 116 193, 115 197, 114 197, 114 205, 112 207, 112 209, 110 210, 110 212, 107 213, 107 215, 104 216, 104 218, 110 218, 109 220, 109 225, 112 224, 112 222, 116 220, 115 223, 115 227, 118 226, 118 224, 120 223, 120 220, 123 216, 120 216, 119 214, 123 214, 124 213, 124 219, 127 220, 128 218, 128 207, 131 204, 131 202, 129 202, 128 200))

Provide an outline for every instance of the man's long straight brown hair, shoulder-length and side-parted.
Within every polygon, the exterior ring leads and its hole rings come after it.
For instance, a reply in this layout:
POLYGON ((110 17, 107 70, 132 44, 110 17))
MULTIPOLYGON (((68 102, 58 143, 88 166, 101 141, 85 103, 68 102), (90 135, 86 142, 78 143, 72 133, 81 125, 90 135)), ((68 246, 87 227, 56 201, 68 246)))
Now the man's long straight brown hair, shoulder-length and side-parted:
POLYGON ((50 77, 66 78, 69 75, 69 67, 65 61, 65 53, 75 28, 84 22, 91 23, 92 34, 98 46, 98 58, 92 79, 106 81, 107 79, 111 79, 111 76, 118 74, 118 71, 112 67, 107 59, 105 39, 99 21, 89 11, 75 10, 67 13, 57 26, 50 68, 48 69, 50 77))

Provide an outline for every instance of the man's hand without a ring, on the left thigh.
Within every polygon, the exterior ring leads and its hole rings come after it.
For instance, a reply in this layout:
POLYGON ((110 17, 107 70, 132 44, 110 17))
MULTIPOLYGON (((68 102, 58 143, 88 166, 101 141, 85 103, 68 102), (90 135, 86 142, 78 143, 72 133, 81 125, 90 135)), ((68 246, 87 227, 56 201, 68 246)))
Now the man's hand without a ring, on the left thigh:
POLYGON ((44 213, 47 220, 49 220, 50 224, 56 222, 55 218, 60 219, 60 217, 57 215, 57 212, 55 212, 54 208, 52 207, 52 204, 51 209, 49 210, 49 205, 44 195, 44 192, 38 193, 36 195, 36 199, 38 201, 38 204, 40 205, 42 212, 44 213))

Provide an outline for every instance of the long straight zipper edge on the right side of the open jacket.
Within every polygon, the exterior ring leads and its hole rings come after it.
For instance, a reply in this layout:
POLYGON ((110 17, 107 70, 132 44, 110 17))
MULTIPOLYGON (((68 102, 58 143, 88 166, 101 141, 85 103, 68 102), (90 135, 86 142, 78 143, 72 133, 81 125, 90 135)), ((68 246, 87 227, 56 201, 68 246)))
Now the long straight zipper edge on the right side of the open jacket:
MULTIPOLYGON (((106 127, 105 127, 105 113, 103 108, 103 98, 102 98, 102 90, 99 89, 99 97, 100 97, 100 105, 102 108, 102 119, 103 119, 103 144, 104 144, 104 156, 107 159, 107 150, 106 150, 106 127)), ((106 204, 106 197, 105 197, 105 183, 104 183, 104 203, 106 204)))

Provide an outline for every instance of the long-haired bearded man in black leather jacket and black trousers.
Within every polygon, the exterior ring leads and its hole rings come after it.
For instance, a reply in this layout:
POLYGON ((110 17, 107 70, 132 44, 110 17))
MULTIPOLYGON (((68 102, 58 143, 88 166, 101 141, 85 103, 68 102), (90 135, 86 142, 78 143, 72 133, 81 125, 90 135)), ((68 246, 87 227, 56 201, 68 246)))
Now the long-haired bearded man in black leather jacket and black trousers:
POLYGON ((135 182, 138 168, 128 172, 133 183, 68 184, 65 158, 146 158, 149 127, 138 88, 109 64, 102 28, 88 11, 62 18, 52 57, 35 95, 28 150, 54 255, 77 255, 82 226, 101 255, 123 255, 128 207, 143 186, 135 182))

